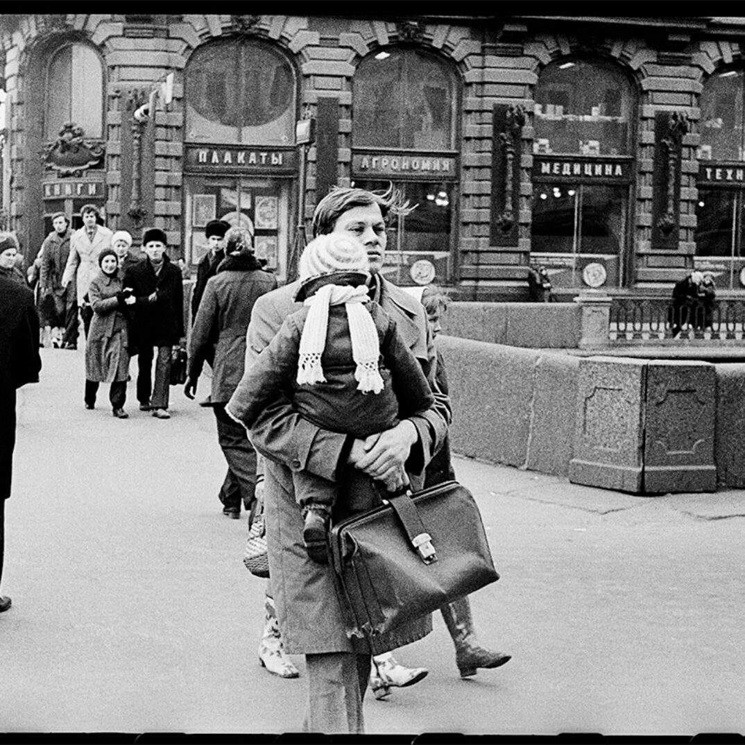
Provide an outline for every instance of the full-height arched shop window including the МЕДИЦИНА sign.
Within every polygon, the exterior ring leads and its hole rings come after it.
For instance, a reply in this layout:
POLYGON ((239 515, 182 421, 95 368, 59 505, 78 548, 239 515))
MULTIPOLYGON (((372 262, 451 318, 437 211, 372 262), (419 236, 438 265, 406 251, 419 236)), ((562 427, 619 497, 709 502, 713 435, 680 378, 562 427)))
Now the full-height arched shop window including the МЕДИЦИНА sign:
POLYGON ((534 93, 531 262, 554 285, 627 283, 635 92, 601 60, 558 60, 534 93))

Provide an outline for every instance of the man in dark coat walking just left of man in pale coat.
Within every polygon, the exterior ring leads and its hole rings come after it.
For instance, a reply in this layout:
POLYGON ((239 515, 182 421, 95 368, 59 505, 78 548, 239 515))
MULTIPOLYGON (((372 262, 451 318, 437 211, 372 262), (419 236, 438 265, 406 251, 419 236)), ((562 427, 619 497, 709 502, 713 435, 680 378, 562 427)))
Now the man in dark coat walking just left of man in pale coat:
POLYGON ((62 277, 70 255, 70 223, 64 212, 51 218, 52 230, 39 251, 39 301, 44 326, 51 326, 53 346, 77 346, 75 284, 63 287, 62 277))

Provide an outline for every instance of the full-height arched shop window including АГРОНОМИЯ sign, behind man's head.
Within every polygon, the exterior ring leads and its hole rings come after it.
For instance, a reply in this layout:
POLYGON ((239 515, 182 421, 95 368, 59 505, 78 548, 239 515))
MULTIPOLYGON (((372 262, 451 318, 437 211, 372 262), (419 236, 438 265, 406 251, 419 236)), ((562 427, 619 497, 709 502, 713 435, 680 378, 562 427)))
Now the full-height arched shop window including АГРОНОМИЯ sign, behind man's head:
POLYGON ((352 89, 352 183, 391 183, 418 205, 391 218, 383 273, 402 285, 449 282, 457 215, 459 78, 434 54, 384 48, 352 89))

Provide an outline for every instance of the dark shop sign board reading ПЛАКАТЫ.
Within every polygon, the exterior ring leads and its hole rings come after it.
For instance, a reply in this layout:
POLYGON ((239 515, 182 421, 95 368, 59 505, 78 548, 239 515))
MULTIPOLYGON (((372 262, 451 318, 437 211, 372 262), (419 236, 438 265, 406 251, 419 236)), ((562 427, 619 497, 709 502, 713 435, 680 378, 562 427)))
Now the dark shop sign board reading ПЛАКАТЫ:
POLYGON ((185 168, 200 173, 294 174, 297 152, 240 145, 188 145, 185 168))

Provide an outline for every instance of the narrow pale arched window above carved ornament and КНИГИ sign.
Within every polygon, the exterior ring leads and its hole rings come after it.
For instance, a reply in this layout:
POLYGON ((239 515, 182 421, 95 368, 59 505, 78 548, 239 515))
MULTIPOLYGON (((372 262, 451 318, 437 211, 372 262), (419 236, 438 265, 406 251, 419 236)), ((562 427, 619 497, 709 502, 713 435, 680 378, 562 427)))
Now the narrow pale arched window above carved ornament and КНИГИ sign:
POLYGON ((86 44, 66 44, 47 66, 44 135, 57 139, 60 127, 74 121, 87 137, 101 138, 104 123, 104 68, 86 44))

